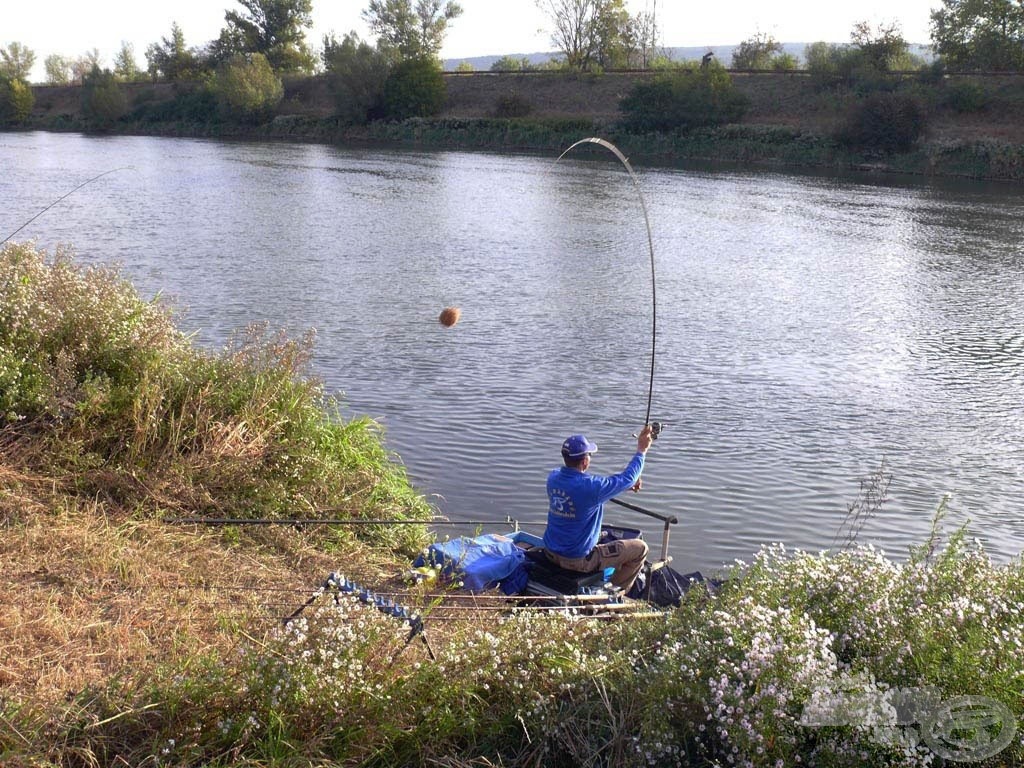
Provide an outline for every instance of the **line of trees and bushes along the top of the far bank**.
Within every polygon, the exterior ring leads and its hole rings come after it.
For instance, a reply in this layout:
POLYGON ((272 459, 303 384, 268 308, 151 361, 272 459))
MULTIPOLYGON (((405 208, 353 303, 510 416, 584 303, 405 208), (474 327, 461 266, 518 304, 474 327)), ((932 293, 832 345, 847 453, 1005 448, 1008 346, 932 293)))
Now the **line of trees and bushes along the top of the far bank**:
MULTIPOLYGON (((47 79, 82 85, 82 113, 94 126, 127 118, 137 122, 260 122, 274 114, 284 95, 283 77, 323 73, 334 96, 337 118, 360 124, 379 119, 430 117, 445 99, 440 50, 450 26, 463 13, 456 0, 369 0, 362 11, 374 41, 351 32, 332 33, 314 52, 306 37, 312 0, 234 0, 225 10, 218 37, 187 44, 172 24, 167 37, 146 47, 143 71, 127 43, 113 68, 92 50, 74 60, 57 55, 45 62, 47 79), (129 105, 121 84, 128 81, 188 82, 170 102, 129 105), (130 112, 129 112, 130 110, 130 112)), ((580 72, 655 69, 667 73, 637 85, 621 104, 631 130, 674 130, 739 120, 743 99, 711 55, 702 62, 669 60, 656 2, 630 13, 625 0, 535 0, 550 25, 559 54, 547 67, 580 72)), ((943 0, 932 12, 934 61, 909 52, 896 24, 855 25, 847 44, 817 42, 804 50, 804 68, 822 87, 849 86, 860 95, 892 90, 881 84, 889 73, 920 70, 931 76, 955 70, 1024 70, 1024 3, 1020 0, 943 0)), ((19 43, 0 48, 0 122, 29 117, 33 93, 27 82, 35 53, 19 43)), ((771 36, 757 33, 732 55, 733 69, 792 70, 801 62, 771 36)), ((534 69, 505 56, 494 70, 534 69)), ((956 109, 974 109, 982 98, 953 93, 956 109)), ((977 90, 977 89, 976 89, 977 90)), ((886 119, 920 133, 912 99, 880 97, 886 119)), ((877 99, 878 100, 878 99, 877 99)), ((512 94, 496 106, 497 117, 524 117, 528 102, 512 94)), ((869 125, 870 119, 864 124, 869 125)), ((912 140, 912 139, 911 139, 912 140)), ((906 144, 905 139, 897 142, 906 144)))

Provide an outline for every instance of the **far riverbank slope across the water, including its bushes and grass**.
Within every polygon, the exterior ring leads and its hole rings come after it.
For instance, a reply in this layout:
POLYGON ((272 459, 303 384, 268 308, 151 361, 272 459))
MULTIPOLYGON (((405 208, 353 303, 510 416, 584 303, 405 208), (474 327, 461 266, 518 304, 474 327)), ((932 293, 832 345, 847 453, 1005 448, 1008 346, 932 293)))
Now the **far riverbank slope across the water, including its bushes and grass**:
POLYGON ((260 63, 228 62, 208 81, 173 84, 118 84, 96 72, 82 87, 36 89, 34 110, 24 98, 15 108, 14 91, 5 110, 0 87, 0 124, 546 153, 602 135, 648 161, 1024 180, 1024 78, 1014 75, 824 66, 730 74, 683 63, 442 77, 411 60, 374 80, 373 61, 356 60, 282 85, 260 63))

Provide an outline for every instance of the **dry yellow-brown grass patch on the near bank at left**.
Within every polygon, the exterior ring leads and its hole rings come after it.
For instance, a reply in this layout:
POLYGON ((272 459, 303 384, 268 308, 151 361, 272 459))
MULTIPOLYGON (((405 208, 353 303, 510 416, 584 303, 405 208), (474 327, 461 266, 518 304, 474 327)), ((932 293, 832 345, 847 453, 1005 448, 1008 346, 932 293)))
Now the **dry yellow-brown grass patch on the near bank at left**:
MULTIPOLYGON (((293 529, 197 529, 56 499, 43 511, 27 497, 15 514, 11 476, 0 469, 0 688, 20 700, 56 702, 261 636, 339 567, 310 538, 322 535, 293 529)), ((386 570, 347 546, 366 578, 386 570)))

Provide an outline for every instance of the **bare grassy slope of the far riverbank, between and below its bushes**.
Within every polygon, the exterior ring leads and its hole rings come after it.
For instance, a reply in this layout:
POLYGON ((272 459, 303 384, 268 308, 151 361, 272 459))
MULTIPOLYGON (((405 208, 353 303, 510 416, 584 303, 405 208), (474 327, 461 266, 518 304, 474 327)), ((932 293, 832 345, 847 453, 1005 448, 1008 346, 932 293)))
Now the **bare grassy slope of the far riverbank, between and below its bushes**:
MULTIPOLYGON (((241 125, 184 109, 197 100, 193 83, 125 85, 128 102, 145 119, 126 118, 105 132, 189 137, 285 139, 342 145, 387 144, 460 150, 550 153, 589 135, 615 141, 639 162, 701 161, 910 173, 1024 181, 1024 78, 947 76, 935 83, 909 82, 928 106, 928 130, 911 152, 886 155, 852 152, 836 129, 858 94, 822 90, 804 73, 736 73, 734 82, 750 108, 742 122, 689 132, 627 133, 618 128, 620 99, 650 73, 567 75, 558 73, 449 74, 447 99, 438 118, 366 126, 333 116, 326 79, 286 81, 278 114, 261 125, 241 125), (982 105, 965 111, 956 94, 965 88, 986 94, 982 105), (524 117, 496 117, 502 97, 514 96, 524 117), (166 106, 154 120, 154 104, 166 106), (140 106, 148 105, 139 111, 140 106)), ((906 85, 909 82, 909 85, 906 85)), ((35 86, 36 106, 24 128, 89 132, 81 116, 80 89, 35 86)))

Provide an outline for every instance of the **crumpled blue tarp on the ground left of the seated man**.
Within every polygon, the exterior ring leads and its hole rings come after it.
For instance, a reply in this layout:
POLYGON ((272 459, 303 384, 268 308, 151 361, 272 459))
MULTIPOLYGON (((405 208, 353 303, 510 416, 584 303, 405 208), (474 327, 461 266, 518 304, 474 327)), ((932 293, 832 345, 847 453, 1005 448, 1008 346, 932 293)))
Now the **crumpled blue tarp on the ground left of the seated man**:
POLYGON ((414 565, 435 565, 450 579, 461 578, 471 592, 501 587, 511 595, 526 586, 526 558, 515 542, 501 534, 431 544, 414 565))

